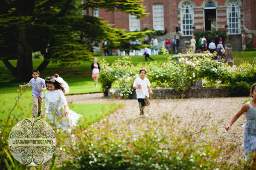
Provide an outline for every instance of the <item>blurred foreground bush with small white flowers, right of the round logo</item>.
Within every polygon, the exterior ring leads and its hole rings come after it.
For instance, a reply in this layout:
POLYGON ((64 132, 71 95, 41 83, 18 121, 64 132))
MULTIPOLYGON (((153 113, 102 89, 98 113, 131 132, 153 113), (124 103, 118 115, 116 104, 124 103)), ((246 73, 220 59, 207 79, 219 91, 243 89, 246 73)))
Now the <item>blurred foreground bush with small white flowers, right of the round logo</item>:
POLYGON ((88 127, 81 131, 76 146, 79 152, 73 152, 76 159, 65 161, 62 170, 242 169, 241 165, 227 164, 236 146, 208 137, 208 132, 216 133, 215 127, 189 129, 169 113, 157 120, 141 120, 135 132, 125 125, 117 130, 108 120, 101 124, 106 128, 88 127), (203 134, 205 140, 201 140, 203 134))

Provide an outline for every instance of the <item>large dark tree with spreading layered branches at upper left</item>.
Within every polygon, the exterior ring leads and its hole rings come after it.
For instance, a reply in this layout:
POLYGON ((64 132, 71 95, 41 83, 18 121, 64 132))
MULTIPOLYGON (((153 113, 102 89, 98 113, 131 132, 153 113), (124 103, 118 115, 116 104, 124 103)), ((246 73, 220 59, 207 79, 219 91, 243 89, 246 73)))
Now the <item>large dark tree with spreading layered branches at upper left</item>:
MULTIPOLYGON (((92 46, 102 40, 109 48, 122 49, 128 40, 141 40, 147 32, 126 33, 111 28, 99 17, 82 15, 82 10, 106 9, 144 17, 141 0, 0 0, 0 59, 17 81, 31 78, 32 51, 41 51, 41 72, 50 61, 78 64, 87 60, 92 46), (9 59, 17 59, 12 66, 9 59)), ((139 49, 143 45, 132 46, 139 49)))

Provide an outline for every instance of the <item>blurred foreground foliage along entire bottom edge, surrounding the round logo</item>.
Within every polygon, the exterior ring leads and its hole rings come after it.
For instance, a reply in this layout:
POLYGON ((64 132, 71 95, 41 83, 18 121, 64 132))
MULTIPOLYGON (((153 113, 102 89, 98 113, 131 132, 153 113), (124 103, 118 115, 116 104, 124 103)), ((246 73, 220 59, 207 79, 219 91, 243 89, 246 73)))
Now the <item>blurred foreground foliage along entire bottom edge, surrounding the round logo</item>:
MULTIPOLYGON (((20 108, 22 94, 18 93, 15 107, 20 108)), ((67 135, 57 130, 57 150, 49 163, 27 167, 9 152, 9 127, 23 119, 23 112, 20 117, 12 117, 12 110, 9 108, 8 119, 0 127, 0 164, 6 170, 255 170, 255 161, 241 161, 239 166, 227 163, 236 145, 218 138, 217 127, 204 124, 194 130, 169 112, 157 119, 131 120, 138 123, 135 131, 125 124, 118 124, 117 128, 108 119, 101 119, 99 126, 85 123, 74 130, 75 147, 64 142, 67 135)), ((199 121, 208 122, 209 117, 199 121)))

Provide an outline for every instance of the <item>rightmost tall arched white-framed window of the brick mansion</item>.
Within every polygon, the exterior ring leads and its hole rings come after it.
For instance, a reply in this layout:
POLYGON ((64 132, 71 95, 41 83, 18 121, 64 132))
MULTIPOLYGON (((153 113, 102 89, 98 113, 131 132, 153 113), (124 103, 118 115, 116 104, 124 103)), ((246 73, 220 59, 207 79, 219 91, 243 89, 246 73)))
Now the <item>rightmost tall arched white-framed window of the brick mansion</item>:
POLYGON ((237 0, 230 0, 227 3, 227 25, 229 35, 241 34, 240 5, 237 0), (234 12, 232 11, 233 6, 235 7, 234 12), (232 16, 232 13, 237 16, 232 16), (233 22, 233 20, 235 21, 233 22))

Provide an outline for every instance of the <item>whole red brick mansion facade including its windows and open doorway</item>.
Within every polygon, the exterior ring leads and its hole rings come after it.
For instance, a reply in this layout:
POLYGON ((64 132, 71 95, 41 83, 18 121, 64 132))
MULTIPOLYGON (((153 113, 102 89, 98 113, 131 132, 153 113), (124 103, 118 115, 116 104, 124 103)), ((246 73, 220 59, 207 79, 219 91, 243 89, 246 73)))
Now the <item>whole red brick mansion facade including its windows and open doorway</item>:
POLYGON ((193 31, 224 31, 228 35, 233 51, 246 48, 242 38, 250 37, 256 48, 256 0, 144 0, 147 17, 138 20, 131 14, 105 12, 104 9, 89 9, 84 14, 102 17, 113 27, 127 31, 165 30, 167 34, 159 39, 159 46, 166 37, 175 35, 175 27, 181 28, 181 46, 190 40, 193 31), (193 28, 195 30, 193 30, 193 28))

